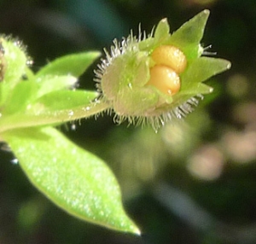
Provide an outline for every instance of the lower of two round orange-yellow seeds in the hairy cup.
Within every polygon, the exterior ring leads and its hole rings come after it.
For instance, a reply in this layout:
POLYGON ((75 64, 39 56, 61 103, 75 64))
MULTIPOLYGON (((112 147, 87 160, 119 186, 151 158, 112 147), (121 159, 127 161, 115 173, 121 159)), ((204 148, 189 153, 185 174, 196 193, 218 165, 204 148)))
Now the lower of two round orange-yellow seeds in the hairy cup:
POLYGON ((150 78, 147 84, 154 85, 167 95, 174 95, 180 89, 180 79, 170 67, 155 65, 150 69, 150 78))

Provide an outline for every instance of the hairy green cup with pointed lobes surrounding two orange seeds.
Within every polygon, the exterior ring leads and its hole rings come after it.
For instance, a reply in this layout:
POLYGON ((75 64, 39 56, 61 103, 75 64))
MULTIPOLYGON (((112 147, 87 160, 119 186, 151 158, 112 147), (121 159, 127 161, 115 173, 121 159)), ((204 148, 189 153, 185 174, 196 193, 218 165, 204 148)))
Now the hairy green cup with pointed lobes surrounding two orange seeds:
POLYGON ((180 118, 191 112, 198 102, 196 97, 212 92, 202 82, 229 69, 230 62, 201 56, 200 42, 208 15, 208 10, 202 11, 172 34, 164 19, 148 38, 139 33, 138 38, 131 34, 121 44, 114 41, 110 54, 106 51, 106 60, 102 60, 96 72, 96 82, 102 100, 112 107, 117 120, 148 121, 157 129, 173 115, 180 118), (173 96, 147 85, 154 62, 150 55, 162 45, 177 47, 187 59, 187 67, 180 74, 181 89, 173 96))

